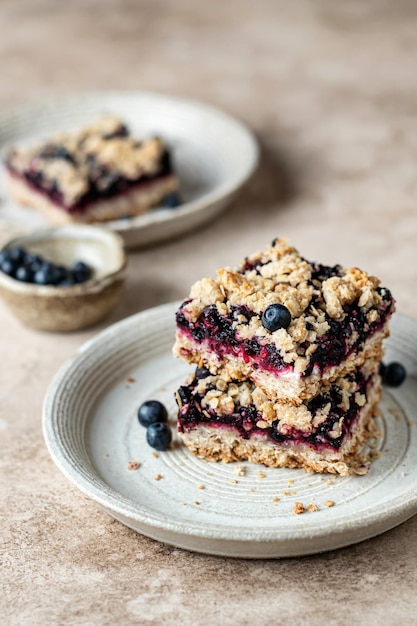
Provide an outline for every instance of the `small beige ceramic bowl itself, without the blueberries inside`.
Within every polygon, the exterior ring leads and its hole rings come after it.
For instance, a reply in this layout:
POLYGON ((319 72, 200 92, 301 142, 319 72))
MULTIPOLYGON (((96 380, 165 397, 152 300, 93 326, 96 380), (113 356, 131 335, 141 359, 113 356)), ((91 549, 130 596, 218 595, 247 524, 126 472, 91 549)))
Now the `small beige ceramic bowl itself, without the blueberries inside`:
POLYGON ((86 328, 119 302, 126 267, 119 235, 97 226, 68 225, 16 237, 3 250, 15 246, 58 265, 84 261, 93 269, 90 280, 69 287, 25 283, 0 271, 0 296, 26 326, 48 331, 86 328))

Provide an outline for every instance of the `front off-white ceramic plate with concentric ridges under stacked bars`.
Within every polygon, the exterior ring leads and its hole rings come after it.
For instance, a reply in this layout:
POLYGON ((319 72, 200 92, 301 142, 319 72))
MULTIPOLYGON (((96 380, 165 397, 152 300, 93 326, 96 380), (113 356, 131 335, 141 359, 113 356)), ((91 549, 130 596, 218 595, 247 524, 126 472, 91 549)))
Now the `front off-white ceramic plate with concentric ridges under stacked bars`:
POLYGON ((385 389, 380 451, 366 476, 332 477, 194 458, 177 439, 153 453, 136 413, 157 398, 175 427, 174 391, 190 366, 174 359, 175 304, 100 333, 57 374, 44 404, 52 458, 84 494, 136 531, 233 557, 283 557, 346 546, 417 512, 417 322, 396 315, 386 362, 408 377, 385 389), (130 470, 129 463, 139 463, 130 470), (239 475, 237 465, 243 467, 239 475), (295 515, 296 501, 318 510, 295 515), (334 502, 328 508, 326 502, 334 502))

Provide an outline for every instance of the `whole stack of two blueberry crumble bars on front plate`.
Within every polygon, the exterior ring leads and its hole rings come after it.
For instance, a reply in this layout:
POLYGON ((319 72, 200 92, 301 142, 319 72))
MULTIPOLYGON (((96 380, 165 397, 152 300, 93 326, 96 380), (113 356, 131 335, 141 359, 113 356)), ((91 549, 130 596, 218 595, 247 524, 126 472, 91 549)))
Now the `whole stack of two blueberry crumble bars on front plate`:
POLYGON ((178 431, 197 456, 347 475, 381 395, 394 300, 357 269, 310 263, 274 240, 197 282, 177 312, 178 431))

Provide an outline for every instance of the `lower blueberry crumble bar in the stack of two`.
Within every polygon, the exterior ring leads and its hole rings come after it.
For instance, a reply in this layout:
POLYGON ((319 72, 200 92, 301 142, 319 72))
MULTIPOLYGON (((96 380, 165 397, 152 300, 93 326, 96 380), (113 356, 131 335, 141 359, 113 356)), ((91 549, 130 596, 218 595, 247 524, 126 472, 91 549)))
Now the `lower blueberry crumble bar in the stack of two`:
POLYGON ((207 460, 366 473, 369 463, 359 452, 375 434, 371 418, 380 393, 376 364, 337 379, 299 406, 274 404, 253 383, 227 383, 202 368, 177 391, 178 431, 207 460))

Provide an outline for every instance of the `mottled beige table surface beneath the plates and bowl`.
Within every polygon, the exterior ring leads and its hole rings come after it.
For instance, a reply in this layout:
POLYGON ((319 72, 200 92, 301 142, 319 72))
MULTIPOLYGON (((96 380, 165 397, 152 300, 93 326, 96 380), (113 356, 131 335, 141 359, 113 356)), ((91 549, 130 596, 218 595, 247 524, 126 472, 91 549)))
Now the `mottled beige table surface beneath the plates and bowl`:
POLYGON ((0 24, 2 108, 155 90, 223 108, 263 148, 220 219, 130 255, 126 297, 99 328, 42 334, 0 304, 0 623, 417 624, 417 517, 301 559, 191 554, 112 521, 41 434, 51 377, 85 340, 276 235, 378 275, 417 318, 417 4, 8 0, 0 24))

